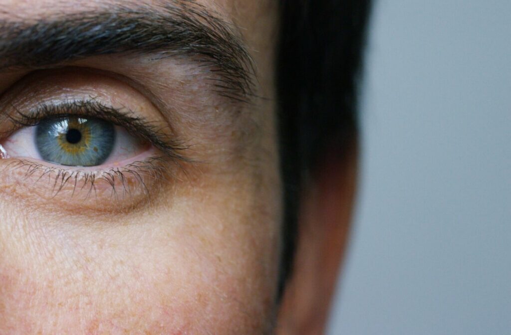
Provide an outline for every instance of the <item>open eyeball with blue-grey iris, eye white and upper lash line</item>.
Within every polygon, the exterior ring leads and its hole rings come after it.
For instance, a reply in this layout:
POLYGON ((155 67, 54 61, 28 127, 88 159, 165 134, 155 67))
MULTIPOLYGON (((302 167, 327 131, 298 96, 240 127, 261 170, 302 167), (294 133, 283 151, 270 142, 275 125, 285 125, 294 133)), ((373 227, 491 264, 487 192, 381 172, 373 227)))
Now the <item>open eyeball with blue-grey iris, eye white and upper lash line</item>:
POLYGON ((94 116, 98 113, 110 113, 115 119, 122 112, 94 101, 38 107, 30 114, 19 112, 11 116, 20 129, 4 140, 4 158, 34 159, 60 169, 122 167, 151 151, 140 135, 130 134, 104 116, 94 116))

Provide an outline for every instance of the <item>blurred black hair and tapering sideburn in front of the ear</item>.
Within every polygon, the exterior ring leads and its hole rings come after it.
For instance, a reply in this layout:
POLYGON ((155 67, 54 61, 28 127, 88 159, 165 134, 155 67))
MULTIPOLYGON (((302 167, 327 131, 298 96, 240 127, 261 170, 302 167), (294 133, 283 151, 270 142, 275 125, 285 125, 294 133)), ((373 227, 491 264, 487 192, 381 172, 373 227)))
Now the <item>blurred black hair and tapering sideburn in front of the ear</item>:
POLYGON ((292 269, 298 201, 318 161, 356 142, 357 86, 370 0, 281 0, 277 97, 284 182, 282 295, 292 269))

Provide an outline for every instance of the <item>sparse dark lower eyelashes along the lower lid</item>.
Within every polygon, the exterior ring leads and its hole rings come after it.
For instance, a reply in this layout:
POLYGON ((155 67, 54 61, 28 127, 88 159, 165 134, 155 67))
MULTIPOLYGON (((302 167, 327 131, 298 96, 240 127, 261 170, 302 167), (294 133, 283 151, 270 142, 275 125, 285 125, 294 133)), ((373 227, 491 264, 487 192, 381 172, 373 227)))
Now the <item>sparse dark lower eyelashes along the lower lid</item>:
POLYGON ((81 194, 85 198, 82 200, 95 197, 100 201, 98 193, 101 196, 110 193, 109 199, 101 200, 117 201, 134 194, 148 196, 158 192, 153 185, 161 187, 165 184, 164 179, 173 177, 169 163, 167 156, 156 156, 114 169, 84 171, 48 166, 29 159, 14 159, 6 167, 23 171, 21 177, 34 187, 39 187, 40 182, 48 183, 52 198, 66 190, 70 197, 81 194))

